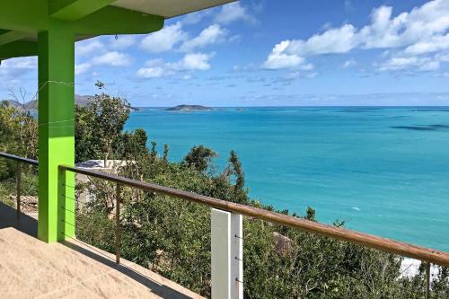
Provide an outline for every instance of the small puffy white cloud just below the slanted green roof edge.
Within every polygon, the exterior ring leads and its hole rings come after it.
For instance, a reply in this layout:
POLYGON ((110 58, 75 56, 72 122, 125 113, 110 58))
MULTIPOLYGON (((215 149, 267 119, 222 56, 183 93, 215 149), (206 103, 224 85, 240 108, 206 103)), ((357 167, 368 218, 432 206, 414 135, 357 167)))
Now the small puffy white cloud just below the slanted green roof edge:
POLYGON ((160 53, 172 50, 178 43, 187 40, 188 35, 182 31, 182 25, 177 22, 173 25, 166 26, 161 31, 148 34, 142 40, 140 46, 152 53, 160 53))

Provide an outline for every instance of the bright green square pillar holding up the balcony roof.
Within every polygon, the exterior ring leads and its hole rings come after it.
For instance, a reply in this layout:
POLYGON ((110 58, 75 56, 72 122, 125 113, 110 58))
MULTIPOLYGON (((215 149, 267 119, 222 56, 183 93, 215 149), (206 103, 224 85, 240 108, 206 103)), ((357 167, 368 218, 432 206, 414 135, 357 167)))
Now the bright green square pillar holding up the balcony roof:
POLYGON ((39 33, 38 56, 38 237, 56 242, 75 235, 74 175, 57 168, 75 163, 75 36, 65 22, 39 33))

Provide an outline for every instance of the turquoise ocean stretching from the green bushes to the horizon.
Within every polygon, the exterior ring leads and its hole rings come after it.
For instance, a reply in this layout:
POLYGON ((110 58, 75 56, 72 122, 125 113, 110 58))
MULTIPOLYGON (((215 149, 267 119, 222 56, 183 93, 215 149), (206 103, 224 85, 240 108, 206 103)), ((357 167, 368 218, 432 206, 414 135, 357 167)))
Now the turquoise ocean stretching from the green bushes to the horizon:
POLYGON ((131 113, 135 128, 170 145, 171 161, 213 148, 216 171, 235 150, 264 204, 449 251, 449 108, 147 108, 131 113))

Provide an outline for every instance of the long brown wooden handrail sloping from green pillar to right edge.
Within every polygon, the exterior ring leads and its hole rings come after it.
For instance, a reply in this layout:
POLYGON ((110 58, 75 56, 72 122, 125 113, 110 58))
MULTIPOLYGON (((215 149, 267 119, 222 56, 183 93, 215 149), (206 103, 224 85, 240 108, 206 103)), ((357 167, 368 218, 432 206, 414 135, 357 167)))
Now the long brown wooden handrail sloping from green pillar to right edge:
POLYGON ((179 189, 172 189, 147 183, 139 180, 131 180, 118 175, 104 173, 100 171, 89 171, 83 168, 59 165, 61 171, 73 171, 76 173, 92 176, 98 179, 110 180, 121 185, 152 191, 174 198, 182 198, 191 202, 206 205, 208 207, 215 207, 217 209, 233 212, 241 215, 247 215, 260 220, 268 221, 270 223, 282 224, 293 227, 297 230, 314 233, 321 236, 330 237, 339 241, 351 242, 363 245, 368 248, 379 251, 390 252, 412 259, 420 259, 436 265, 449 267, 449 253, 444 251, 435 251, 425 247, 411 245, 405 242, 397 242, 391 239, 386 239, 374 236, 368 233, 359 233, 356 231, 339 228, 332 225, 319 224, 313 221, 297 218, 291 215, 284 215, 276 212, 271 212, 258 207, 249 207, 221 199, 210 198, 203 195, 198 195, 193 192, 182 191, 179 189))

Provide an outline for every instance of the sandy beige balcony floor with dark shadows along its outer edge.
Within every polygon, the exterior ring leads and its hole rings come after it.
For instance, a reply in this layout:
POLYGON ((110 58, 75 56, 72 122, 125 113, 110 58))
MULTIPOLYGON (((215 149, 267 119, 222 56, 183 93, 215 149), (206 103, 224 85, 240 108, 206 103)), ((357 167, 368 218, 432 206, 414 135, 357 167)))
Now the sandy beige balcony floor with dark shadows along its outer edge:
POLYGON ((0 203, 0 298, 202 298, 84 242, 47 244, 37 221, 0 203))

